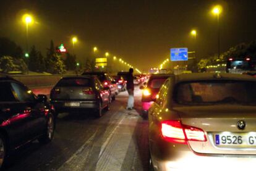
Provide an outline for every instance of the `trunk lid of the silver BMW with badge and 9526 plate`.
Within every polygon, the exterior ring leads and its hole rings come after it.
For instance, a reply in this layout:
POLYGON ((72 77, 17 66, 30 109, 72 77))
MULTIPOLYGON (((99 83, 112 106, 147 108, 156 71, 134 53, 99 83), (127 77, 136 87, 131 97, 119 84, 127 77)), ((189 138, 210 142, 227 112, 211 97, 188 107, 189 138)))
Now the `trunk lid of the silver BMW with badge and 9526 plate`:
POLYGON ((202 154, 256 154, 256 107, 239 105, 174 107, 183 125, 201 128, 207 141, 189 141, 202 154), (238 122, 245 122, 239 129, 238 122))

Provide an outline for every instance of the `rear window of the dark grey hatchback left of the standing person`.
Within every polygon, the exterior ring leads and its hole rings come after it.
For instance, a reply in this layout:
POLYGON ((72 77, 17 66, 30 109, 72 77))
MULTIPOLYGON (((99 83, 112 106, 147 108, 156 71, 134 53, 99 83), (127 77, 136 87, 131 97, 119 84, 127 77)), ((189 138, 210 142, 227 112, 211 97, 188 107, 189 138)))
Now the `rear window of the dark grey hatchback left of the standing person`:
POLYGON ((90 78, 62 78, 56 86, 90 86, 90 78))

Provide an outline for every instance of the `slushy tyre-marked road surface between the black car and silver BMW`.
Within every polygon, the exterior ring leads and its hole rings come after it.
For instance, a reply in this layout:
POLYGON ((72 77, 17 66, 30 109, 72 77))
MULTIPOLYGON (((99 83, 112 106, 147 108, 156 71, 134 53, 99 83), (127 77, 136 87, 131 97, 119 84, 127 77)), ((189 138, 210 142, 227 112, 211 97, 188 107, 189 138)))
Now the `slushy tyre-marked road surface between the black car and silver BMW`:
POLYGON ((139 116, 139 88, 135 110, 125 109, 127 97, 127 92, 119 93, 100 119, 86 111, 60 114, 52 143, 27 144, 12 155, 5 169, 148 170, 148 122, 139 116))

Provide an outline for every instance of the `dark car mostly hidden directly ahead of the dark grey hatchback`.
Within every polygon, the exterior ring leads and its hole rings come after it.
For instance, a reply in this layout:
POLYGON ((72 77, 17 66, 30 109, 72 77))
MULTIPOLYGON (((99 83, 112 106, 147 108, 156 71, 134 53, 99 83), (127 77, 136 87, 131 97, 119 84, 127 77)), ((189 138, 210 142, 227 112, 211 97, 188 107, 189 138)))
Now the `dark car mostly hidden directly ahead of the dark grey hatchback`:
POLYGON ((82 75, 96 75, 101 81, 104 87, 109 88, 109 100, 110 102, 116 99, 116 81, 111 80, 108 73, 106 72, 83 72, 82 75))

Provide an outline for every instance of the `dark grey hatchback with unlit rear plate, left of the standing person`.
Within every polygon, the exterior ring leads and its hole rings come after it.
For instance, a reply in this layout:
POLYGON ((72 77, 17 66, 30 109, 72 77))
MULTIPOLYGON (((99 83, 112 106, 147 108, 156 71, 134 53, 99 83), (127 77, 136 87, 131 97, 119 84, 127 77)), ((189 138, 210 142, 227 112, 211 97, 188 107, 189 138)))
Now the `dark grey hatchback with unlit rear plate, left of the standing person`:
POLYGON ((101 117, 103 109, 109 110, 109 88, 104 87, 96 76, 63 77, 53 87, 50 102, 56 112, 83 112, 92 109, 101 117))

